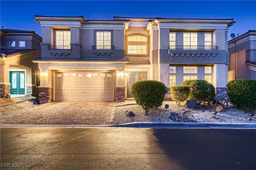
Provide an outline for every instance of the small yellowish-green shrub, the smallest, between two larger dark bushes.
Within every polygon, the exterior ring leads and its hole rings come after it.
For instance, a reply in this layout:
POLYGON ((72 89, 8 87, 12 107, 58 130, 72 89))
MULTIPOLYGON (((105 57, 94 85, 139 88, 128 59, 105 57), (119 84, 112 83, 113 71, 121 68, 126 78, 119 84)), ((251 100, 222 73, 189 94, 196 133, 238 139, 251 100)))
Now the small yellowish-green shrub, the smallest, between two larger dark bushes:
POLYGON ((170 86, 172 100, 179 106, 180 102, 184 102, 189 96, 189 86, 170 86))

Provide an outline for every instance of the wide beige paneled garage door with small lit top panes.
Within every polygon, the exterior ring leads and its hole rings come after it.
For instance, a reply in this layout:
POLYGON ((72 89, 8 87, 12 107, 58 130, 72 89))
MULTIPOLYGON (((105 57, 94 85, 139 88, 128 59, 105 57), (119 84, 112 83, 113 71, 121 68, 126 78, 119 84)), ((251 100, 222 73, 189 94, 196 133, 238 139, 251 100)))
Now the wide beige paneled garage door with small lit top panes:
POLYGON ((113 101, 112 72, 57 72, 55 101, 113 101))

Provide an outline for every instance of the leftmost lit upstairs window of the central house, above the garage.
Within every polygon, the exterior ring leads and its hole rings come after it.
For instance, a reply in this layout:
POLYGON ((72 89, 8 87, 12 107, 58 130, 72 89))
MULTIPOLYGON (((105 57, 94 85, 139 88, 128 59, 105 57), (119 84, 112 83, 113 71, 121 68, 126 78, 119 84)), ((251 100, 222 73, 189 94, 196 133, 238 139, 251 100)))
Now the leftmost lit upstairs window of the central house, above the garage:
POLYGON ((56 49, 70 49, 70 31, 55 31, 56 49))

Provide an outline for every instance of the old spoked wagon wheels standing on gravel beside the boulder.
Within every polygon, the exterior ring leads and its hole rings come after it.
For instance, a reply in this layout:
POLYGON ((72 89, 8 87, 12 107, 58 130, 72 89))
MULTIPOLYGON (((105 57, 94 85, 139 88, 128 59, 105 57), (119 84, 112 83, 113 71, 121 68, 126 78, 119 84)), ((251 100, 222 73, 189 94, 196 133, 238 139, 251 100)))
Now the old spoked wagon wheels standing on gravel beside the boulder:
MULTIPOLYGON (((209 96, 206 96, 206 99, 204 100, 204 108, 205 109, 213 109, 215 108, 215 112, 216 109, 218 107, 218 110, 220 111, 226 111, 228 109, 228 102, 226 99, 224 98, 218 98, 217 100, 210 98, 209 96), (218 107, 220 106, 220 107, 218 107)), ((218 112, 220 112, 218 111, 218 112)))

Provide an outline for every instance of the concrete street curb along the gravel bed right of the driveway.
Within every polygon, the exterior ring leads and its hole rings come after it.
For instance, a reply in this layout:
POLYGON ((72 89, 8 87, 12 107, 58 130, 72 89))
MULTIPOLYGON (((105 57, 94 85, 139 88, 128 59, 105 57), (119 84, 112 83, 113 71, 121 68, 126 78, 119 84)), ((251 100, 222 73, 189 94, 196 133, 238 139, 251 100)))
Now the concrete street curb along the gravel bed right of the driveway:
POLYGON ((152 123, 137 122, 110 127, 137 127, 137 128, 223 128, 223 129, 256 129, 255 123, 152 123))

